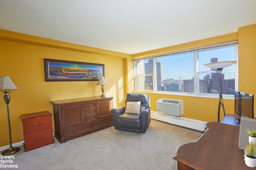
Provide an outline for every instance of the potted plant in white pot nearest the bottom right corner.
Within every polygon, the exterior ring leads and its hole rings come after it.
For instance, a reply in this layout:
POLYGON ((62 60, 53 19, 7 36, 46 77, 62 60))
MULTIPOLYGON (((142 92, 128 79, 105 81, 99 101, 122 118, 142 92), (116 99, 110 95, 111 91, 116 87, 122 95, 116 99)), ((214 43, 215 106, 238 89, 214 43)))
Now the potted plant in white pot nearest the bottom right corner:
POLYGON ((254 145, 252 142, 250 143, 250 148, 244 150, 246 153, 244 156, 245 164, 251 168, 256 167, 256 149, 254 149, 254 145))

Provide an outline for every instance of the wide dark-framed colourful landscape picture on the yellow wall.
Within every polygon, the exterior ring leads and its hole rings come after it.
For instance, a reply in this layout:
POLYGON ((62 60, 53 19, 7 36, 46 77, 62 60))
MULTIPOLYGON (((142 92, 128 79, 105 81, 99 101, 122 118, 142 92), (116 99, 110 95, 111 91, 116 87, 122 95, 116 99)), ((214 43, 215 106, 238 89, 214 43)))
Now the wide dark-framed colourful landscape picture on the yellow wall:
POLYGON ((45 81, 98 81, 105 76, 105 65, 44 59, 45 81))

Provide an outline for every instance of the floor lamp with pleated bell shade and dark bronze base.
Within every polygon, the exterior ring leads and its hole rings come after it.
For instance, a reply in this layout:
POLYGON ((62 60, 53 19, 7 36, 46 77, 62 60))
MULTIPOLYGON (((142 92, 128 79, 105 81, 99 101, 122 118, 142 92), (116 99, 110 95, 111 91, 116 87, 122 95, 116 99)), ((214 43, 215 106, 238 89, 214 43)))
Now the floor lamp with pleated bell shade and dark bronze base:
POLYGON ((5 90, 5 95, 4 95, 4 101, 7 106, 7 116, 8 116, 8 125, 9 125, 9 140, 10 140, 10 148, 6 149, 2 152, 2 155, 10 155, 17 153, 20 148, 19 147, 12 147, 12 134, 11 134, 11 125, 10 125, 10 112, 9 112, 9 102, 10 102, 10 91, 12 89, 18 89, 8 76, 0 76, 0 90, 5 90))

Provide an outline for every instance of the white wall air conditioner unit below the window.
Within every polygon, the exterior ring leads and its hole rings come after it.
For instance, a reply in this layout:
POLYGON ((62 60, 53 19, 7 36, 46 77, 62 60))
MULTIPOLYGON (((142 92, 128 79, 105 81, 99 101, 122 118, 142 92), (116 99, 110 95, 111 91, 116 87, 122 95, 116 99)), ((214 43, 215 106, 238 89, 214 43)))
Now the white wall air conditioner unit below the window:
POLYGON ((183 101, 172 99, 158 99, 156 109, 159 113, 181 116, 183 115, 183 101))

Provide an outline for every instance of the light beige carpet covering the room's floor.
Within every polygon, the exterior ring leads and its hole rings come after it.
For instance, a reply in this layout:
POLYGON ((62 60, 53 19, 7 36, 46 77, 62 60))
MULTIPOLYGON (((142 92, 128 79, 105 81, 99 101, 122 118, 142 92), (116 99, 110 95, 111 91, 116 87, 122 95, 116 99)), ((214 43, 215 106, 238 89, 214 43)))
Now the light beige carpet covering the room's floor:
POLYGON ((68 141, 14 154, 19 170, 177 170, 175 150, 202 132, 151 119, 146 133, 114 127, 68 141))

